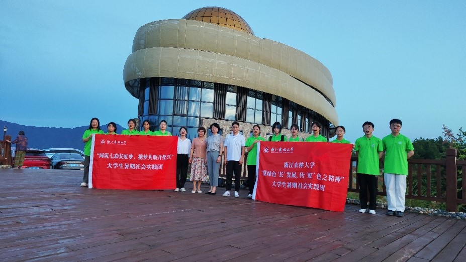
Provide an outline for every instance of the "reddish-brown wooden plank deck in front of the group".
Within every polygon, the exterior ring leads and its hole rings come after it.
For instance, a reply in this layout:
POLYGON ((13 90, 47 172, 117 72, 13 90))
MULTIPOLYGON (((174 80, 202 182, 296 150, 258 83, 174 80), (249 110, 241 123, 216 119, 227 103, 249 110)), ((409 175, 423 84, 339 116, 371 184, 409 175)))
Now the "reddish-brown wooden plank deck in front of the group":
MULTIPOLYGON (((0 169, 0 261, 464 261, 466 222, 172 191, 80 188, 82 171, 0 169)), ((206 192, 207 185, 203 192, 206 192)))

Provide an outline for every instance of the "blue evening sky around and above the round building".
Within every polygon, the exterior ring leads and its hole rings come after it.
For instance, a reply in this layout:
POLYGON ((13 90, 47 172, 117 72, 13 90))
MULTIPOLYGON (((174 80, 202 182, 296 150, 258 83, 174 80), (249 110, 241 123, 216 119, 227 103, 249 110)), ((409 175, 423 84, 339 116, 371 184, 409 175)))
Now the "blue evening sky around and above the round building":
POLYGON ((73 128, 92 117, 126 126, 138 100, 123 83, 144 24, 217 6, 255 36, 322 62, 332 73, 345 138, 455 133, 466 99, 466 1, 0 1, 0 120, 73 128))

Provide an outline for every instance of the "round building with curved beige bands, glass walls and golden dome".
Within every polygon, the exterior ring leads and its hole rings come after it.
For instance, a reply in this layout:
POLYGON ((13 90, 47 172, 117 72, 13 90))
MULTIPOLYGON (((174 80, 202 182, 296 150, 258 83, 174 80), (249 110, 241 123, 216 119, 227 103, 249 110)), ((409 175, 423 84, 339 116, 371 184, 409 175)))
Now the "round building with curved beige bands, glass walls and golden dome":
POLYGON ((322 135, 331 137, 338 125, 329 70, 302 51, 256 37, 222 8, 140 27, 123 78, 139 99, 139 121, 148 119, 151 130, 166 120, 168 131, 187 126, 192 138, 201 125, 221 122, 229 130, 237 121, 268 126, 264 133, 278 121, 309 133, 319 121, 322 135))

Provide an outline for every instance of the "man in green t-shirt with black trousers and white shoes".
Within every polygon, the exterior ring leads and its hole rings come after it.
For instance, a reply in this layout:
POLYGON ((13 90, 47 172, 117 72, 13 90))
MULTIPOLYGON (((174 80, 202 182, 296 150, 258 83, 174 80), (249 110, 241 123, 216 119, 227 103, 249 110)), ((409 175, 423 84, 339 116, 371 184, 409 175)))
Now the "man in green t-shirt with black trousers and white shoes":
POLYGON ((359 184, 359 212, 369 214, 376 213, 377 186, 380 174, 379 162, 384 147, 382 140, 372 135, 374 123, 366 121, 362 124, 364 136, 354 142, 354 150, 357 156, 357 181, 359 184), (367 209, 367 189, 369 190, 369 208, 367 209))

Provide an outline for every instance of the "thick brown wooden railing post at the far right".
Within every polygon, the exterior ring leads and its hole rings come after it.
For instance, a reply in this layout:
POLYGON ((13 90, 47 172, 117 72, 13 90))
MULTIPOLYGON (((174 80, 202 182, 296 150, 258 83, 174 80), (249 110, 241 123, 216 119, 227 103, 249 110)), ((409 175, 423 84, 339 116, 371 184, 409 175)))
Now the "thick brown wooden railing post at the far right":
POLYGON ((446 150, 446 211, 456 212, 457 195, 457 172, 456 172, 456 149, 446 150))

